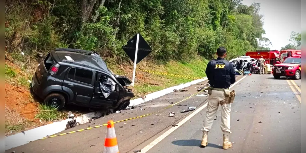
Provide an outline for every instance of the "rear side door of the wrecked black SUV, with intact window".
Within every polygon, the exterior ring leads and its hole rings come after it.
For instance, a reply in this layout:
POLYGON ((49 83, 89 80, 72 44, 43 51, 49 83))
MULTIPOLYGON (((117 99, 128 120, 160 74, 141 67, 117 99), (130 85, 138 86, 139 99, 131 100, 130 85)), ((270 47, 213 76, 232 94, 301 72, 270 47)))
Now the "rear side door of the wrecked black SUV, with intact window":
POLYGON ((63 87, 70 88, 73 91, 74 98, 72 103, 78 105, 89 105, 90 99, 93 96, 93 71, 70 68, 68 74, 65 76, 63 87))

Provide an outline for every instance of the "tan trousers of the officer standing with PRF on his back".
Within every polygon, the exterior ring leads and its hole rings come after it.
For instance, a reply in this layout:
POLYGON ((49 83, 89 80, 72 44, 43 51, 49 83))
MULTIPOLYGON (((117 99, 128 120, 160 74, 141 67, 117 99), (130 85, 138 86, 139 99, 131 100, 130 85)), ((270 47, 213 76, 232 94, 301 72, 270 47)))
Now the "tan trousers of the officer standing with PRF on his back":
MULTIPOLYGON (((211 95, 209 95, 206 107, 206 115, 203 123, 203 127, 201 131, 210 131, 211 126, 213 125, 213 119, 216 118, 216 113, 219 107, 220 102, 225 100, 224 92, 212 90, 211 95)), ((223 104, 221 105, 221 130, 222 132, 231 131, 231 122, 230 122, 230 112, 231 112, 231 104, 223 104)))

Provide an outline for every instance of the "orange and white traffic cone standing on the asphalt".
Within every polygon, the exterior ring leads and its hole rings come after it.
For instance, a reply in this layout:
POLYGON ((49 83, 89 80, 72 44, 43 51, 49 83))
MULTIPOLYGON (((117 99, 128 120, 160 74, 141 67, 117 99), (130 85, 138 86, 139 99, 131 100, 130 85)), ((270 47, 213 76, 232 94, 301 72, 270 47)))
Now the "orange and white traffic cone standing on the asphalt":
POLYGON ((104 153, 119 153, 115 126, 112 120, 107 122, 106 138, 104 143, 104 153))

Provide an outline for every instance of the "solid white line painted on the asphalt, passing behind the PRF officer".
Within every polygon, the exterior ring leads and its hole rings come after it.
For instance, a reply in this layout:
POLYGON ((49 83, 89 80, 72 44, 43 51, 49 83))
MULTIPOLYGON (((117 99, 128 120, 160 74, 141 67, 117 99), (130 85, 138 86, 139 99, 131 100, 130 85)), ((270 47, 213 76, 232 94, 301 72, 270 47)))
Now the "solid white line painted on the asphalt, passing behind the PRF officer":
MULTIPOLYGON (((235 82, 234 84, 232 84, 231 87, 232 88, 234 85, 236 85, 238 82, 240 82, 242 79, 244 79, 247 76, 242 77, 240 80, 238 80, 237 82, 235 82)), ((169 129, 168 131, 164 132, 161 136, 159 136, 158 138, 156 138, 154 141, 152 141, 150 144, 148 144, 147 146, 145 146, 144 148, 141 149, 142 153, 145 153, 147 151, 149 151, 152 147, 154 147, 156 144, 158 144, 159 142, 161 142, 161 140, 163 140, 166 136, 168 136, 169 134, 171 134, 173 131, 175 131, 177 128, 179 128, 181 125, 183 125, 185 122, 187 122, 189 119, 191 119, 193 116, 195 116, 196 114, 198 114, 198 112, 200 112, 201 110, 203 110, 205 107, 207 106, 207 103, 204 104, 203 106, 201 106, 200 108, 198 108, 197 110, 195 110, 193 113, 191 113, 190 115, 188 115, 186 118, 184 118, 182 121, 180 121, 178 124, 176 124, 177 126, 172 127, 171 129, 169 129)))

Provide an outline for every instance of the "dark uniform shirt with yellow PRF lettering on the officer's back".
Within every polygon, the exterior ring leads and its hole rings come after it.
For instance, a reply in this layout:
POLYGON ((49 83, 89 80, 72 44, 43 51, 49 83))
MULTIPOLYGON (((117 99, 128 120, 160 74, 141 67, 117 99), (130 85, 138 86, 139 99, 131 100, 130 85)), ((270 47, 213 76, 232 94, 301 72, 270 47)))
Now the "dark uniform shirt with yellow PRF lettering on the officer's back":
POLYGON ((236 82, 236 72, 231 62, 225 61, 224 58, 217 58, 216 62, 228 63, 229 66, 223 66, 225 69, 216 69, 213 62, 207 64, 205 73, 210 81, 210 85, 214 88, 229 88, 230 84, 236 82), (227 79, 226 76, 230 76, 227 79))

